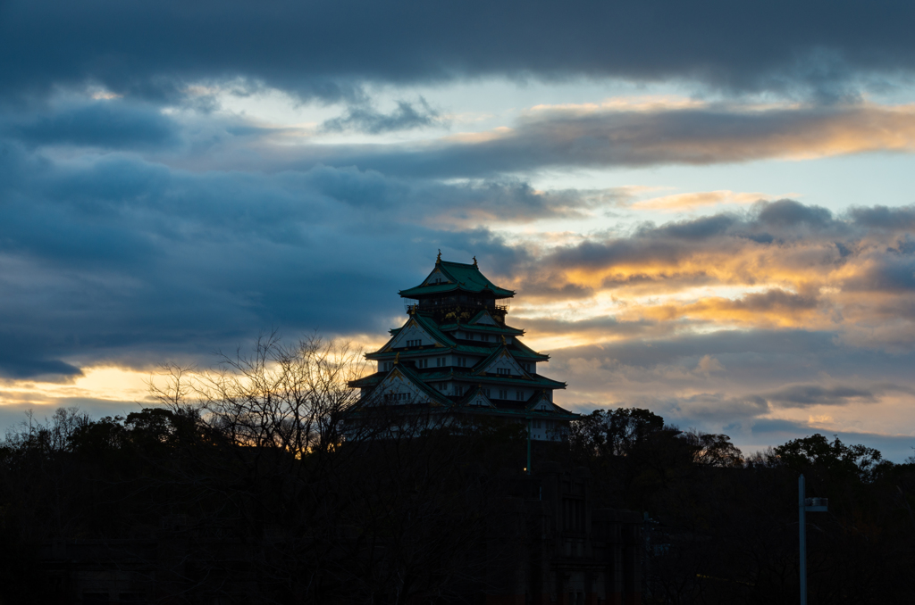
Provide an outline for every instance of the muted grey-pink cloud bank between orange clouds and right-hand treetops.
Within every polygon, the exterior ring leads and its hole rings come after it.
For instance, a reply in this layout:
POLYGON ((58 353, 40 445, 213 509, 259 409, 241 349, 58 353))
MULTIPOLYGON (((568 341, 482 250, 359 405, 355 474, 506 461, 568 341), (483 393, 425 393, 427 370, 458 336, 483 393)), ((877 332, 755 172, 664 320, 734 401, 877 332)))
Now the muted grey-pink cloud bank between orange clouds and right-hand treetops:
POLYGON ((681 428, 725 432, 745 451, 814 432, 876 443, 882 432, 887 439, 875 447, 901 462, 915 444, 899 436, 912 418, 912 352, 860 349, 830 333, 755 329, 635 334, 550 353, 539 371, 568 383, 559 397, 572 409, 651 409, 681 428))

